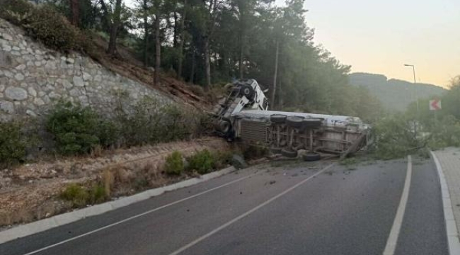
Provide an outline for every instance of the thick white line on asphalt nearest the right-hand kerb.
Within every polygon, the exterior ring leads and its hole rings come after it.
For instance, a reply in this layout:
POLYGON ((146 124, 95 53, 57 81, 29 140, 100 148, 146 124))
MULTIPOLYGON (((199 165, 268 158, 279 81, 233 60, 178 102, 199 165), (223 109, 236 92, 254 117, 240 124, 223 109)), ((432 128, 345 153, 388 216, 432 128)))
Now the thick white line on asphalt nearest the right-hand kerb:
POLYGON ((390 235, 386 241, 384 255, 393 255, 396 250, 399 232, 401 231, 401 225, 403 225, 404 212, 406 212, 406 205, 408 203, 410 179, 412 179, 412 157, 408 156, 408 170, 406 171, 403 194, 399 201, 396 217, 394 217, 393 227, 391 227, 390 235))

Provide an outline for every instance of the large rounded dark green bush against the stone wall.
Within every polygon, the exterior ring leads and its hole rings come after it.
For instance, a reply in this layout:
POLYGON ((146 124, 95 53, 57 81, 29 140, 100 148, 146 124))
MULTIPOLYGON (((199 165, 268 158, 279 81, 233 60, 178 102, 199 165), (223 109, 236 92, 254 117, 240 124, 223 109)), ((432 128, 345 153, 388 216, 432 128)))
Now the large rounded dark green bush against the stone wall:
POLYGON ((55 137, 62 154, 87 154, 98 145, 108 147, 116 140, 114 126, 88 107, 59 101, 49 115, 46 128, 55 137))

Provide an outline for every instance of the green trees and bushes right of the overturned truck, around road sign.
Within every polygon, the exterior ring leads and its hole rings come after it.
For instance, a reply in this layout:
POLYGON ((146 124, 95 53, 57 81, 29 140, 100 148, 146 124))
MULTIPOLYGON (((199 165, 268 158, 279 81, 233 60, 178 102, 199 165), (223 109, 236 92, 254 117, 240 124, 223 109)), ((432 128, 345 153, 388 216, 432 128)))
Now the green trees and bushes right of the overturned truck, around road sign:
POLYGON ((379 159, 420 154, 427 157, 427 149, 460 147, 460 77, 439 99, 441 111, 430 111, 429 101, 420 99, 408 106, 405 113, 386 115, 373 126, 374 152, 379 159))

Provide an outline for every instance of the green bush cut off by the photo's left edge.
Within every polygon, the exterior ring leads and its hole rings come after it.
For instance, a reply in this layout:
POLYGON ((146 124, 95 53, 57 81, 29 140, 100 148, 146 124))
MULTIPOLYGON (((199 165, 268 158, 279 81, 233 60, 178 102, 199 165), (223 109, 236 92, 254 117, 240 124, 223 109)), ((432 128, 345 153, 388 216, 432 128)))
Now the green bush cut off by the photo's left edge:
POLYGON ((0 123, 0 167, 8 167, 23 161, 28 137, 23 134, 19 122, 0 123))

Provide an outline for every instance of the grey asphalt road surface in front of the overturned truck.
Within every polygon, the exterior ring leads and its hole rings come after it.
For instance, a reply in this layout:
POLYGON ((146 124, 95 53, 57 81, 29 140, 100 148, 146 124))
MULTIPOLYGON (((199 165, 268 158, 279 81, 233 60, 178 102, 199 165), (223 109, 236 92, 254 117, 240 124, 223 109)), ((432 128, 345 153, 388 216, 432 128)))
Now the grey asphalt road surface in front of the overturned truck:
MULTIPOLYGON (((331 163, 256 166, 1 244, 0 254, 382 254, 407 161, 331 163)), ((395 254, 448 254, 429 160, 414 159, 395 254)))

